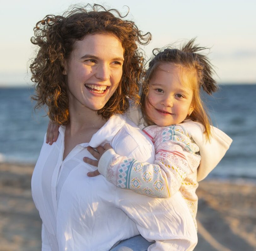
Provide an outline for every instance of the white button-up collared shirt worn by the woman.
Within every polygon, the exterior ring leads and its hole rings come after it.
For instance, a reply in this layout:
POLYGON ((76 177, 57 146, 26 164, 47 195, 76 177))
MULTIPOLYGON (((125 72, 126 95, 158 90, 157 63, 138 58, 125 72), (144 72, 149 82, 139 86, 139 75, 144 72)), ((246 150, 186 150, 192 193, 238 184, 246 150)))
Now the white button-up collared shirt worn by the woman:
MULTIPOLYGON (((32 176, 32 196, 43 221, 44 251, 107 251, 116 242, 141 234, 155 240, 149 250, 193 250, 197 234, 180 192, 157 199, 120 189, 95 167, 87 146, 110 142, 119 155, 154 163, 154 147, 125 115, 113 115, 89 143, 76 146, 62 161, 65 128, 58 140, 42 146, 32 176)), ((129 163, 127 163, 129 165, 129 163)))

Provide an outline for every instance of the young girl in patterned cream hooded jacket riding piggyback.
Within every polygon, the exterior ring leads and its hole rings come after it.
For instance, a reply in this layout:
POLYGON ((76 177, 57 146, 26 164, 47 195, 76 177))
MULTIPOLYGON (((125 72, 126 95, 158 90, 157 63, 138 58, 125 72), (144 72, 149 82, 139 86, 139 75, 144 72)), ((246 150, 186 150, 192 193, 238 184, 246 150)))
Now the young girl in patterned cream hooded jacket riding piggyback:
POLYGON ((154 164, 119 156, 109 144, 88 148, 99 162, 98 171, 120 188, 151 197, 168 198, 178 190, 186 201, 196 226, 196 188, 218 164, 232 140, 210 126, 200 94, 216 91, 212 66, 201 50, 189 41, 181 49, 156 50, 142 88, 141 112, 130 117, 143 128, 155 147, 154 164), (146 126, 148 125, 148 126, 146 126))

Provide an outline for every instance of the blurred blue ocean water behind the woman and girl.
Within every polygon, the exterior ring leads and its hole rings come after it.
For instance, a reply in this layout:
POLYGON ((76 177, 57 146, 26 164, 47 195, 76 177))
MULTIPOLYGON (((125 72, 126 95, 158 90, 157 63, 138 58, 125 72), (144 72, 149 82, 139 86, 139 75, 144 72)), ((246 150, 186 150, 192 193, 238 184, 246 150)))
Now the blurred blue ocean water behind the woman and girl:
MULTIPOLYGON (((48 117, 34 111, 33 87, 0 88, 0 162, 35 163, 48 117)), ((220 85, 206 102, 212 123, 228 134, 230 149, 208 177, 256 181, 256 85, 220 85)))

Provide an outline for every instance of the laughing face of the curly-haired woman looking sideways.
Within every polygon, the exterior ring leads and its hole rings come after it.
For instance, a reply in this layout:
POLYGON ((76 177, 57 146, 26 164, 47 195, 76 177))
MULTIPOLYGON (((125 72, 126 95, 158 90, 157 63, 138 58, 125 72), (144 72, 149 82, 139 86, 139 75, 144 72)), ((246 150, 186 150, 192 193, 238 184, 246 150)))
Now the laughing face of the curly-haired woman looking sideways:
POLYGON ((119 85, 124 49, 111 34, 87 35, 76 41, 65 64, 70 106, 99 110, 119 85))

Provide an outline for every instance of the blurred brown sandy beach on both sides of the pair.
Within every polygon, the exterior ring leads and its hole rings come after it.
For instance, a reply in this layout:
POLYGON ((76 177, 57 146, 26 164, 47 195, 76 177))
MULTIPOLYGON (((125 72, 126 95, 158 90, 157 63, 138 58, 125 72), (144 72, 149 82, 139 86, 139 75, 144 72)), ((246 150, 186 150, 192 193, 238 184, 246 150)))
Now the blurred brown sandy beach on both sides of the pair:
MULTIPOLYGON (((0 251, 41 250, 41 220, 31 197, 33 165, 0 163, 0 251)), ((196 251, 256 250, 256 185, 201 181, 196 251)))

